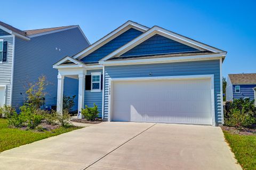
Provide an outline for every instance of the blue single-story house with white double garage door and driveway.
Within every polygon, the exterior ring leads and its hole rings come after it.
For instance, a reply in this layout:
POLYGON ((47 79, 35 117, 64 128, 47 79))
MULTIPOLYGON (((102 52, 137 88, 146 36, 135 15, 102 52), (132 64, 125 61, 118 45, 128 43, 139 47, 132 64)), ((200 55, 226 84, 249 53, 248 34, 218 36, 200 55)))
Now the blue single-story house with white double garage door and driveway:
MULTIPOLYGON (((154 26, 127 21, 99 41, 53 65, 57 110, 63 80, 78 79, 78 118, 84 105, 108 121, 223 124, 225 51, 154 26)), ((64 85, 65 86, 65 85, 64 85)))

